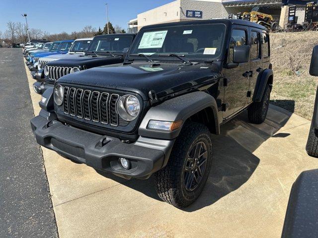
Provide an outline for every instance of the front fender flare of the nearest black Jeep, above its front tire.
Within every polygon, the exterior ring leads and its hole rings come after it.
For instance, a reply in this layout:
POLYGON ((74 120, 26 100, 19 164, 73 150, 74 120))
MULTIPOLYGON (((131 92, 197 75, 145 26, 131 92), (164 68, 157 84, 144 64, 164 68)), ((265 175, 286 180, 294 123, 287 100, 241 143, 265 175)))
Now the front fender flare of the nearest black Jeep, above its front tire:
POLYGON ((215 123, 215 133, 220 134, 217 102, 210 94, 201 91, 184 94, 150 108, 139 126, 138 134, 140 136, 151 138, 167 140, 174 139, 179 135, 184 122, 189 117, 206 108, 212 109, 215 123), (148 128, 148 123, 150 120, 182 120, 182 126, 179 129, 173 131, 150 129, 148 128))

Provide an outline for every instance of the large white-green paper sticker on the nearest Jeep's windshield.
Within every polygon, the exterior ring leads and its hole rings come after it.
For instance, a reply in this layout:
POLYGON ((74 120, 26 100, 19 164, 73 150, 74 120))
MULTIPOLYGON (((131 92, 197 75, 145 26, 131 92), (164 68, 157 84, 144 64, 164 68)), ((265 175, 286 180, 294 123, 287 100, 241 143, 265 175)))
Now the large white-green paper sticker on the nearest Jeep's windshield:
POLYGON ((168 30, 145 32, 138 49, 161 48, 168 30))

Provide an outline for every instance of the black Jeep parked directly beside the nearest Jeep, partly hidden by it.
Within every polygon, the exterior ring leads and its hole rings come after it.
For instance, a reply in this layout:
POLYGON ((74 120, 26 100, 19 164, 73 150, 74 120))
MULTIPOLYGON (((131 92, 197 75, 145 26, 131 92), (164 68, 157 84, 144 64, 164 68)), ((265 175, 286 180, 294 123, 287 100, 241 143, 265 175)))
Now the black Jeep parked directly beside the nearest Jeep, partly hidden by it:
POLYGON ((48 87, 53 87, 57 79, 66 74, 101 65, 122 63, 135 36, 136 34, 99 35, 89 43, 85 55, 47 62, 43 58, 39 62, 42 64, 42 69, 37 72, 39 77, 35 77, 37 82, 33 83, 35 92, 42 94, 48 87))

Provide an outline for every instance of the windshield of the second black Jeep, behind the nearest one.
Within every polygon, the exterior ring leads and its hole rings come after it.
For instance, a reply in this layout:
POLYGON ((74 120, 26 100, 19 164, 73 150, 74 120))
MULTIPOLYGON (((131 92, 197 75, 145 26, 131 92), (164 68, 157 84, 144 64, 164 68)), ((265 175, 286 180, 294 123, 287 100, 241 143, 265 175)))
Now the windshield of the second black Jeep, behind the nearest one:
POLYGON ((88 46, 88 52, 111 52, 123 54, 125 48, 129 48, 133 41, 132 36, 105 36, 103 38, 93 39, 88 46))

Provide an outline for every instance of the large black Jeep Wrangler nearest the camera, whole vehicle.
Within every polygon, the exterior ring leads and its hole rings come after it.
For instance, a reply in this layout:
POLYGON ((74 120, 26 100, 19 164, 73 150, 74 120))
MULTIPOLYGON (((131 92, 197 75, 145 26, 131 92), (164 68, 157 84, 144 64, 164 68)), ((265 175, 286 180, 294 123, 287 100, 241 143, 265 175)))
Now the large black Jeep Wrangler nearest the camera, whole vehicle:
POLYGON ((159 197, 185 207, 208 179, 211 133, 245 109, 262 123, 272 83, 265 27, 230 19, 146 26, 122 64, 59 78, 31 126, 40 145, 96 170, 155 174, 159 197))

